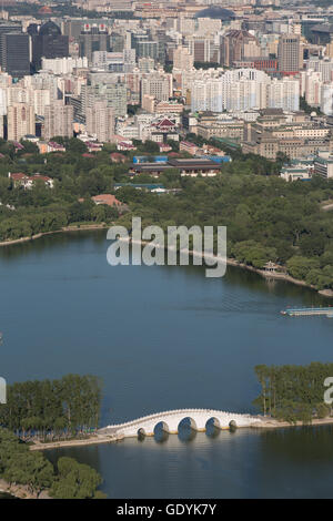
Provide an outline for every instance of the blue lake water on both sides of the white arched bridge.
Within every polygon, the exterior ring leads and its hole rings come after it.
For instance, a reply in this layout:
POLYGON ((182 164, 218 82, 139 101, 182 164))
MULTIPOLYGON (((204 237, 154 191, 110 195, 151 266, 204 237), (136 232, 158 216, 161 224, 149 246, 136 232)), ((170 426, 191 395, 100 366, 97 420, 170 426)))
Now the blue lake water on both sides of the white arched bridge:
MULTIPOLYGON (((316 293, 228 268, 107 263, 105 232, 0 249, 0 375, 103 378, 102 425, 158 410, 255 412, 256 364, 332 361, 333 320, 285 318, 316 293)), ((53 451, 101 471, 115 498, 333 497, 332 428, 169 436, 53 451)))

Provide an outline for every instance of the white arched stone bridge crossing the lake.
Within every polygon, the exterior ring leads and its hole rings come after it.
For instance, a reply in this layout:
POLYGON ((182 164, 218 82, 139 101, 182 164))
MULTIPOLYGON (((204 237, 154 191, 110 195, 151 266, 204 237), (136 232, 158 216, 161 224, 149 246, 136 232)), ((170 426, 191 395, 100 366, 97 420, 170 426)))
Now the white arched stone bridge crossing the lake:
POLYGON ((206 425, 211 421, 220 429, 230 427, 252 427, 261 423, 259 416, 240 415, 224 412, 214 409, 178 409, 165 412, 157 412, 143 416, 125 423, 111 425, 100 429, 101 435, 121 436, 124 438, 137 437, 139 435, 153 436, 158 425, 161 425, 165 432, 176 435, 182 420, 189 419, 192 429, 205 431, 206 425))

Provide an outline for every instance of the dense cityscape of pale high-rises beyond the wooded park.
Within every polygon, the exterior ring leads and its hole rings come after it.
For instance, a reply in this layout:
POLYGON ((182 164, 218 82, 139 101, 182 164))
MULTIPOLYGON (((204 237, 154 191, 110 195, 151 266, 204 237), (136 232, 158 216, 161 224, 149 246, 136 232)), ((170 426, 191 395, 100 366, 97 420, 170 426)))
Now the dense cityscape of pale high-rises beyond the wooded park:
POLYGON ((333 175, 330 7, 89 1, 72 6, 93 18, 71 18, 57 3, 22 3, 31 14, 14 3, 2 2, 0 24, 1 137, 41 153, 54 136, 90 151, 150 140, 161 154, 172 140, 193 155, 193 133, 286 155, 285 180, 333 175))

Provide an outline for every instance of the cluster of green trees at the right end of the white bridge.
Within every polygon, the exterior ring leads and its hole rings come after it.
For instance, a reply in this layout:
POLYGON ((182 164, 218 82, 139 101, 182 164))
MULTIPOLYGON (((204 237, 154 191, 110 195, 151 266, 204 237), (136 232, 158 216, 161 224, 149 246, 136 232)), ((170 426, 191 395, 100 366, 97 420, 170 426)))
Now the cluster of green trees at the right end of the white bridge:
POLYGON ((264 415, 295 422, 311 423, 313 418, 332 415, 324 401, 324 381, 333 375, 333 364, 309 366, 265 366, 254 368, 261 392, 254 405, 264 415))

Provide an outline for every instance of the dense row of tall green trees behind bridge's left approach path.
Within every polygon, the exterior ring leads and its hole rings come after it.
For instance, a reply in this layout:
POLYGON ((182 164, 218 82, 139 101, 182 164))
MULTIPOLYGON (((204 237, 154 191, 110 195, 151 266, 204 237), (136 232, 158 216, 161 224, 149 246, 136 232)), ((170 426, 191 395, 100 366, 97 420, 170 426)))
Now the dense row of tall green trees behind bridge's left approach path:
POLYGON ((34 380, 8 386, 0 426, 21 439, 82 436, 99 426, 101 382, 91 375, 34 380))

